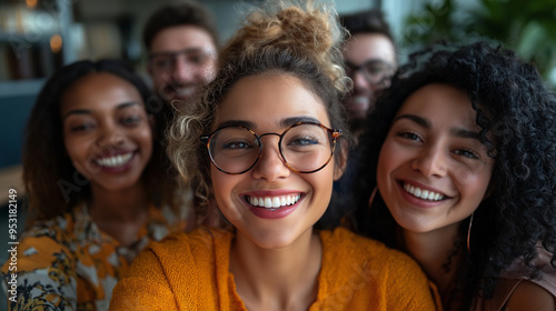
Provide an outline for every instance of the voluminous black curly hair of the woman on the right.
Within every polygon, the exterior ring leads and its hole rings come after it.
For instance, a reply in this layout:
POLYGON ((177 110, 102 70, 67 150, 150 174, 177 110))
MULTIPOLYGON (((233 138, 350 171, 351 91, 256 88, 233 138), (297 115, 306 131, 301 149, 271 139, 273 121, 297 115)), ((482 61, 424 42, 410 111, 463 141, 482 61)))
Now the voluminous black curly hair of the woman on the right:
MULTIPOLYGON (((471 249, 464 250, 457 268, 459 294, 468 304, 475 295, 492 297, 500 272, 518 258, 532 279, 540 278, 533 264, 537 242, 552 253, 550 264, 556 269, 556 96, 534 66, 503 47, 437 44, 411 54, 367 120, 353 189, 354 229, 393 248, 400 248, 398 225, 379 193, 369 207, 378 156, 401 104, 430 83, 467 93, 481 128, 480 141, 495 159, 490 195, 474 213, 471 249)), ((465 249, 468 224, 469 219, 461 221, 447 263, 457 249, 465 249)))

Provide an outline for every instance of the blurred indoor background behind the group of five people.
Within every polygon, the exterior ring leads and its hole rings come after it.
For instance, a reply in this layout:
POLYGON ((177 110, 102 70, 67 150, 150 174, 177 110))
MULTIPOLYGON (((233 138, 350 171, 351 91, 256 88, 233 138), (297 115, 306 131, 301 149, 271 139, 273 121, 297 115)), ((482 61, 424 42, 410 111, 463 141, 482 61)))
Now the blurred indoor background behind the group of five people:
MULTIPOLYGON (((202 0, 217 17, 220 43, 242 6, 265 0, 202 0)), ((0 262, 7 258, 8 189, 20 193, 22 131, 47 77, 81 59, 122 58, 145 72, 140 40, 150 13, 170 0, 0 0, 0 262)), ((438 39, 488 38, 537 63, 556 86, 556 0, 335 0, 338 12, 380 8, 400 60, 438 39)), ((22 214, 22 213, 21 213, 22 214)), ((21 222, 23 219, 21 219, 21 222)), ((20 223, 21 223, 20 222, 20 223)), ((22 224, 22 223, 21 223, 22 224)), ((20 227, 21 228, 21 227, 20 227)), ((0 311, 4 310, 0 294, 0 311)))

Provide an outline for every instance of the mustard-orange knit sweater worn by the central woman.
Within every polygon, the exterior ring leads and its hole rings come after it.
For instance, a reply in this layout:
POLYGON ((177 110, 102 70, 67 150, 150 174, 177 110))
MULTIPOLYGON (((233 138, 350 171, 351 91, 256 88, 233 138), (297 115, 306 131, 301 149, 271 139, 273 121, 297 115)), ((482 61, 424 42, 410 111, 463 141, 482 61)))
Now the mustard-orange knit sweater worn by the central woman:
MULTIPOLYGON (((435 310, 407 255, 346 229, 319 232, 314 310, 435 310)), ((116 285, 110 310, 246 310, 229 272, 232 232, 201 228, 151 243, 116 285)))

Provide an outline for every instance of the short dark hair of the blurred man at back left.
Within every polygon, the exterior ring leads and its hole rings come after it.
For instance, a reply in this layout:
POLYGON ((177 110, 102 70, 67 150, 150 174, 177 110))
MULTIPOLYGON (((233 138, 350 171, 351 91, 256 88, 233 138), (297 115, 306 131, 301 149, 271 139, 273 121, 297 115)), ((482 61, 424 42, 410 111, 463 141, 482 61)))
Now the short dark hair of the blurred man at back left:
POLYGON ((150 16, 142 32, 142 40, 147 50, 150 51, 152 40, 158 32, 176 26, 202 28, 210 34, 215 46, 218 46, 218 31, 212 13, 196 1, 180 1, 165 6, 150 16))

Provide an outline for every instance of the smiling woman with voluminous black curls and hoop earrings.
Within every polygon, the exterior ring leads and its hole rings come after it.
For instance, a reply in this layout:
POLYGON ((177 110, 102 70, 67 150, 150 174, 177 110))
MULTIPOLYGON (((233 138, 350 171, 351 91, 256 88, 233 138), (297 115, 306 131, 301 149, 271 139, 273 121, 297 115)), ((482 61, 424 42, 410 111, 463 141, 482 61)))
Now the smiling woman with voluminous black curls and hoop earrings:
POLYGON ((555 310, 556 101, 537 70, 484 42, 437 46, 377 107, 356 231, 416 259, 445 310, 555 310))

